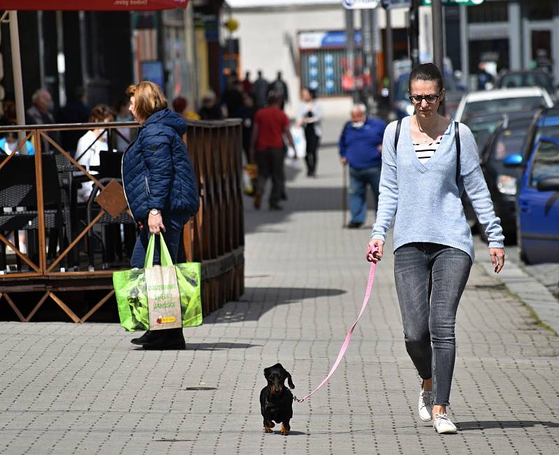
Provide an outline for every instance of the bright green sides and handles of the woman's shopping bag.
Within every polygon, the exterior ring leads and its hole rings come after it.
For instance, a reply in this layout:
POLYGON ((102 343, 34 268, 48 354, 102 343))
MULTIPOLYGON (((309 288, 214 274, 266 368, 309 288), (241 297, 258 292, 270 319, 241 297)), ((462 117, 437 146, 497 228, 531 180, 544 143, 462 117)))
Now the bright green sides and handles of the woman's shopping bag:
MULTIPOLYGON (((180 294, 180 308, 182 326, 192 327, 202 324, 201 302, 201 266, 199 262, 179 263, 173 265, 163 236, 161 239, 161 268, 173 266, 176 273, 176 283, 180 294)), ((145 254, 144 268, 120 270, 112 274, 112 284, 117 297, 120 325, 127 331, 150 330, 150 305, 147 298, 147 268, 154 268, 153 257, 155 250, 155 235, 150 237, 145 254)), ((155 266, 157 268, 159 266, 155 266)), ((148 275, 152 276, 150 273, 148 275)), ((173 277, 174 278, 174 277, 173 277)), ((171 284, 161 284, 161 288, 176 287, 174 280, 171 284)), ((153 308, 153 302, 152 302, 153 308)), ((153 310, 152 310, 153 312, 153 310)), ((152 314, 152 329, 157 315, 152 314)), ((161 326, 161 328, 165 328, 161 326)))

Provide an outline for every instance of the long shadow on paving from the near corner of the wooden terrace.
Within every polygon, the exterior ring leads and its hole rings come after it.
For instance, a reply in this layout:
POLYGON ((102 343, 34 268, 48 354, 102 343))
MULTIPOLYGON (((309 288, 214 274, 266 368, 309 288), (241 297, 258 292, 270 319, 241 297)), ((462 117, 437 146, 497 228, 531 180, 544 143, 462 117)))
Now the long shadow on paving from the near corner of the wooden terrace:
POLYGON ((340 296, 346 293, 347 291, 343 289, 245 287, 244 298, 241 301, 227 303, 222 309, 209 315, 205 319, 205 323, 228 324, 231 322, 258 321, 264 313, 276 305, 300 302, 306 298, 340 296))

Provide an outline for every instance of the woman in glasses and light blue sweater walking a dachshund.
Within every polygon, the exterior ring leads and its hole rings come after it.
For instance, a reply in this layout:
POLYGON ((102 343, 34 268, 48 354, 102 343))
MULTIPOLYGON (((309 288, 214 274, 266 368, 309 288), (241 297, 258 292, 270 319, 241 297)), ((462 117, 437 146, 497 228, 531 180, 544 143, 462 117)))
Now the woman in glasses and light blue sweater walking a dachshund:
POLYGON ((433 419, 437 433, 456 433, 447 416, 456 356, 454 326, 474 260, 462 189, 485 228, 496 273, 504 265, 504 237, 472 132, 437 112, 444 100, 437 66, 414 68, 409 99, 415 115, 392 122, 384 133, 379 208, 367 259, 381 260, 395 215, 395 284, 407 353, 422 379, 419 417, 433 419))

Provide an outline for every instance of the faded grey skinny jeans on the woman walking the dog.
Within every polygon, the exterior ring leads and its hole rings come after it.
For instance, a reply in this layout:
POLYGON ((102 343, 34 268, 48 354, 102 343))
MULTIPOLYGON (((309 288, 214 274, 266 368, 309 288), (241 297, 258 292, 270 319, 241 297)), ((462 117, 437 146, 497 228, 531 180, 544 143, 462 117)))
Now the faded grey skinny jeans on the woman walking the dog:
POLYGON ((458 302, 470 256, 437 243, 407 243, 394 253, 394 276, 407 353, 424 379, 433 377, 435 405, 449 405, 458 302))

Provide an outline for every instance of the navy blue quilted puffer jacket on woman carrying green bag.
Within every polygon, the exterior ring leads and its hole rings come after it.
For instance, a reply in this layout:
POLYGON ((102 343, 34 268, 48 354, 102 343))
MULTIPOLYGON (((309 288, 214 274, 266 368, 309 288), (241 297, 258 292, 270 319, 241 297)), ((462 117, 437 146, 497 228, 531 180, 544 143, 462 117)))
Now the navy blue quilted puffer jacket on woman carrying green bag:
POLYGON ((164 109, 150 115, 122 157, 124 194, 134 219, 152 208, 164 213, 198 212, 198 185, 181 136, 184 118, 164 109))

